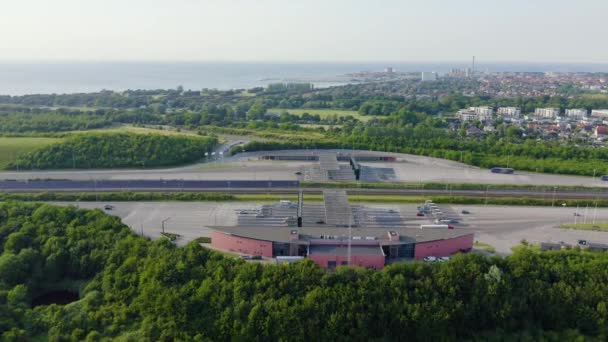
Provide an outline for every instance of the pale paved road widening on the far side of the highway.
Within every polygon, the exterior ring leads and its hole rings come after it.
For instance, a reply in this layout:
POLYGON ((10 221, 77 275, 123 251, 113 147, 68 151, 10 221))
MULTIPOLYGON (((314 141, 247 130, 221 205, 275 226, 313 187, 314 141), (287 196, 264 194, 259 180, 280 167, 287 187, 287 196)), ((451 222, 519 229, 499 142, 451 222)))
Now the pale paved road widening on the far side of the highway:
MULTIPOLYGON (((351 150, 325 150, 351 153, 351 150)), ((312 150, 247 152, 234 157, 217 157, 208 163, 184 167, 146 170, 82 170, 82 171, 21 171, 0 172, 0 179, 79 179, 79 180, 298 180, 296 172, 309 167, 305 161, 260 161, 265 154, 314 154, 312 150)), ((370 153, 356 151, 355 153, 370 153)), ((513 175, 495 174, 489 170, 462 163, 399 153, 373 152, 397 158, 397 162, 364 162, 363 166, 393 169, 398 182, 450 182, 487 184, 584 185, 608 187, 600 175, 592 177, 535 174, 519 172, 513 175)))

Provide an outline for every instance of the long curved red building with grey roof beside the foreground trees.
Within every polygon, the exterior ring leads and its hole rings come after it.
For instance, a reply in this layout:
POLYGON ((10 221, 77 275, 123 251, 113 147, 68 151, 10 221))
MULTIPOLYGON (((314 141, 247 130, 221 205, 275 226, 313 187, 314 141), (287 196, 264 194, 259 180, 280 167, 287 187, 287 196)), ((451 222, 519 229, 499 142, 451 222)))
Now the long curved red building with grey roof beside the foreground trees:
POLYGON ((214 248, 245 255, 303 256, 333 269, 381 269, 395 259, 450 256, 473 247, 474 232, 442 228, 214 227, 214 248), (349 239, 350 236, 350 239, 349 239))

